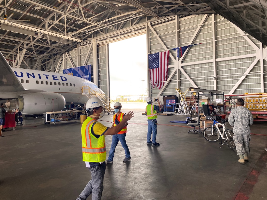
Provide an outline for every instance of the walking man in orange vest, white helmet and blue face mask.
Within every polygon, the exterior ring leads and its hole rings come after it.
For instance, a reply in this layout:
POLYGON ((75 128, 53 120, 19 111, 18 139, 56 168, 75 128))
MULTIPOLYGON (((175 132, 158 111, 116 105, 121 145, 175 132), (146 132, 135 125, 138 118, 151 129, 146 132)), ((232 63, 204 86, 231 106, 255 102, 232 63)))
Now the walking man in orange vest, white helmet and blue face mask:
MULTIPOLYGON (((125 114, 120 111, 121 107, 122 106, 121 106, 120 102, 116 102, 114 104, 114 111, 115 111, 116 114, 113 115, 113 124, 112 124, 111 127, 117 126, 123 120, 123 117, 124 117, 125 114)), ((131 159, 130 151, 129 151, 128 145, 126 144, 126 141, 125 141, 126 133, 128 132, 127 131, 127 125, 128 125, 128 122, 120 130, 120 132, 118 134, 112 135, 112 143, 111 143, 111 147, 110 147, 107 163, 112 163, 113 162, 115 149, 116 149, 116 146, 118 145, 119 141, 120 141, 121 146, 123 147, 123 149, 125 151, 125 158, 123 159, 123 162, 127 162, 129 159, 131 159)))

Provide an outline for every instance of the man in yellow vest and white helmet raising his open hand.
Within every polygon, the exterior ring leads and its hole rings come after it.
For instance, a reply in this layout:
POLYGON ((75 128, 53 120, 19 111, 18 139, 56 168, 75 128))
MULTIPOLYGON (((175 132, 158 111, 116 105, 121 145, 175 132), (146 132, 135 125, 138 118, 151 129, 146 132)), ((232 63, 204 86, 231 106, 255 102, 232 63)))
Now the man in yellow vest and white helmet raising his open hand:
POLYGON ((92 200, 100 200, 103 191, 104 174, 106 170, 105 135, 115 135, 126 126, 134 115, 132 111, 124 115, 122 121, 114 127, 106 127, 97 120, 105 114, 103 102, 93 97, 86 104, 87 119, 81 127, 82 152, 85 166, 91 171, 91 180, 76 200, 85 200, 92 194, 92 200))

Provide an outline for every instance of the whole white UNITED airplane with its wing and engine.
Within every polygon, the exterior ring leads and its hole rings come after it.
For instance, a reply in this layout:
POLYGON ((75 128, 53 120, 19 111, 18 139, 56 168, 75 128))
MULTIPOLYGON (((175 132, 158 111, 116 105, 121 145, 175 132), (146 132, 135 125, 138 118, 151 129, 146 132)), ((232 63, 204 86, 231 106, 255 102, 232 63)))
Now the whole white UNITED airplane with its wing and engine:
POLYGON ((23 114, 42 114, 63 110, 70 102, 85 104, 89 94, 103 98, 105 93, 84 78, 47 71, 10 67, 0 52, 0 101, 8 110, 18 108, 23 114), (88 86, 88 87, 87 87, 88 86))

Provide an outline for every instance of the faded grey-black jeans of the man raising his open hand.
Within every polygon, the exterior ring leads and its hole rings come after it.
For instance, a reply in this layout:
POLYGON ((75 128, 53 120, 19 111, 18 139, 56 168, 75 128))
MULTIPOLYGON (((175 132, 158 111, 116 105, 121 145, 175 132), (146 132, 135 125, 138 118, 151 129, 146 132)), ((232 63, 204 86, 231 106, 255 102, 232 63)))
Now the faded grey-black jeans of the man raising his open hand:
POLYGON ((106 170, 106 163, 103 162, 96 167, 88 167, 91 171, 91 180, 76 200, 86 200, 92 194, 92 200, 100 200, 104 189, 103 181, 106 170))

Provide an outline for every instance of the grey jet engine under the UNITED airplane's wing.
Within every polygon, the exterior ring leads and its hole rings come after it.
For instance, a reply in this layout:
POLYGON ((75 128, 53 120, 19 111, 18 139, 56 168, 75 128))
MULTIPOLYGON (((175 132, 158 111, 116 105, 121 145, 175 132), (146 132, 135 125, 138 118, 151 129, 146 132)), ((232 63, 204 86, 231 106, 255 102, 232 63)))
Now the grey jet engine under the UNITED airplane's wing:
POLYGON ((63 110, 65 98, 52 92, 26 93, 17 99, 7 100, 5 105, 10 110, 18 108, 23 114, 43 114, 63 110))

